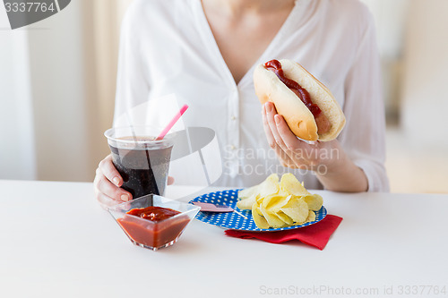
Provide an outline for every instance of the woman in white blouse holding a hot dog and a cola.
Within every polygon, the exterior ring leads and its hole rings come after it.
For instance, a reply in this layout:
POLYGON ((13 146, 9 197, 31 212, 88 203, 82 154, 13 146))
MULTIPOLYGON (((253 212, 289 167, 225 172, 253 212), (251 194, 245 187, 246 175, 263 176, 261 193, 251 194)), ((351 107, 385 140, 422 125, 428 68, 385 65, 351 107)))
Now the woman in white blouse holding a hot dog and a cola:
MULTIPOLYGON (((288 171, 311 189, 386 192, 380 80, 374 22, 358 0, 137 0, 122 27, 115 116, 175 93, 190 106, 187 126, 217 134, 216 185, 288 171), (347 119, 337 140, 297 140, 272 104, 259 104, 254 66, 278 58, 332 90, 347 119)), ((111 158, 101 161, 99 202, 131 200, 122 183, 111 158)))

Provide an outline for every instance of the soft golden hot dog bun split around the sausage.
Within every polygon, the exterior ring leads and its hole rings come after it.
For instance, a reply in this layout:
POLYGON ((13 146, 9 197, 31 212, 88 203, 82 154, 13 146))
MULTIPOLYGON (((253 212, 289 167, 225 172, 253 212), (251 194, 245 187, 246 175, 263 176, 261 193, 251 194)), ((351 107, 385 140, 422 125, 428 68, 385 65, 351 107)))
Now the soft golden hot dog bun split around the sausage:
POLYGON ((266 69, 263 64, 254 71, 255 94, 264 104, 271 101, 279 115, 282 115, 289 129, 303 140, 334 140, 345 125, 345 116, 339 103, 333 98, 332 92, 322 82, 314 78, 300 64, 288 59, 280 60, 285 77, 297 83, 310 94, 314 104, 319 106, 329 122, 331 129, 322 135, 317 133, 314 115, 308 107, 289 89, 274 72, 266 69))

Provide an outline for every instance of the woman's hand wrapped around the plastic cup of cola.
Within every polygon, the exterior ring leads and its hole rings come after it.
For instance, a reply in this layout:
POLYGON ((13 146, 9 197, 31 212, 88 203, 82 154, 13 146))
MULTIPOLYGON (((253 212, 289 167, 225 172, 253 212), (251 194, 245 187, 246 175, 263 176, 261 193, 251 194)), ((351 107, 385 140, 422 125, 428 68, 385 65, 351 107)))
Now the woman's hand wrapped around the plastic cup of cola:
POLYGON ((95 198, 99 201, 102 208, 129 201, 133 199, 130 192, 126 192, 120 186, 123 185, 123 178, 112 163, 112 156, 109 154, 99 162, 93 187, 95 198))

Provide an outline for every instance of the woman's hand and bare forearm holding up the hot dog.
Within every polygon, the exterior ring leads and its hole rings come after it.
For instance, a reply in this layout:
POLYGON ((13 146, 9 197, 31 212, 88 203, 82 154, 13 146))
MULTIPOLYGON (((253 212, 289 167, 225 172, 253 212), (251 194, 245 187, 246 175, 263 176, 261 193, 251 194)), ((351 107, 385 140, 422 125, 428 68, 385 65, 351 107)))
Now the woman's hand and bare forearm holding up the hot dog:
POLYGON ((314 171, 328 190, 366 192, 366 175, 347 157, 338 140, 307 143, 297 139, 271 102, 263 105, 263 127, 283 166, 314 171))

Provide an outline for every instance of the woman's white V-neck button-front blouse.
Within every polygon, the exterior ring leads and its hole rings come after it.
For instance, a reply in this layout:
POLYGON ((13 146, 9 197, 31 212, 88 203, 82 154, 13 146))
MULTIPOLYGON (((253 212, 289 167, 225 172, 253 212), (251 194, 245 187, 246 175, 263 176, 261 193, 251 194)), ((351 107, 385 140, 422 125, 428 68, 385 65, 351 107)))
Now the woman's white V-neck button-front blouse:
MULTIPOLYGON (((388 192, 375 25, 358 0, 297 0, 269 47, 237 84, 200 0, 134 1, 122 25, 115 125, 135 106, 174 95, 178 106, 190 106, 185 126, 216 132, 223 174, 215 185, 250 186, 271 173, 292 172, 306 188, 322 189, 313 172, 281 166, 263 132, 254 66, 280 58, 302 64, 332 91, 347 119, 340 145, 366 173, 369 192, 388 192)), ((183 174, 171 175, 177 179, 183 174)))

